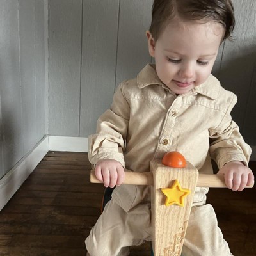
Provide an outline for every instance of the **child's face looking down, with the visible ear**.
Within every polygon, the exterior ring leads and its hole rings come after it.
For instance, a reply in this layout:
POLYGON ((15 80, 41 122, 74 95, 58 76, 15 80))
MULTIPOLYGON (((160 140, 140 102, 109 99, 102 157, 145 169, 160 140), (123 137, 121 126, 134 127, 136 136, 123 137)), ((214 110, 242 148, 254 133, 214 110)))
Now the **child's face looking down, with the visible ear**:
POLYGON ((184 94, 211 74, 224 29, 215 22, 172 20, 155 42, 147 32, 149 52, 156 72, 172 92, 184 94))

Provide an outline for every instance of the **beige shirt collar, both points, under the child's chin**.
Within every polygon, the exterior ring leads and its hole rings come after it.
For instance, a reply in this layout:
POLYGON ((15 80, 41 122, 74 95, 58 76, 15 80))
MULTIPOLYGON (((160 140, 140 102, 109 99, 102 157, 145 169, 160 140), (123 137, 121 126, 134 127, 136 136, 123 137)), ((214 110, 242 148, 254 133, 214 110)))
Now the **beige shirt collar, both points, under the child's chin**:
MULTIPOLYGON (((168 88, 157 76, 156 65, 154 64, 147 64, 146 67, 141 70, 137 76, 137 83, 138 88, 145 88, 146 86, 152 84, 157 84, 163 86, 164 88, 168 88)), ((216 79, 216 77, 210 74, 204 83, 193 88, 190 92, 188 92, 188 94, 202 94, 211 98, 212 100, 216 100, 218 99, 219 92, 220 82, 218 79, 216 79)))

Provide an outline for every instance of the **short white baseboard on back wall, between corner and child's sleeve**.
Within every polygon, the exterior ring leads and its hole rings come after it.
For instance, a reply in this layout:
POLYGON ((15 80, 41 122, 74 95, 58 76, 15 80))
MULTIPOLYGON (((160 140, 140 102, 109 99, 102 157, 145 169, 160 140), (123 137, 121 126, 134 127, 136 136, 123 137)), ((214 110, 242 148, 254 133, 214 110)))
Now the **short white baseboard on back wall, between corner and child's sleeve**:
POLYGON ((49 136, 50 151, 88 152, 88 138, 49 136))

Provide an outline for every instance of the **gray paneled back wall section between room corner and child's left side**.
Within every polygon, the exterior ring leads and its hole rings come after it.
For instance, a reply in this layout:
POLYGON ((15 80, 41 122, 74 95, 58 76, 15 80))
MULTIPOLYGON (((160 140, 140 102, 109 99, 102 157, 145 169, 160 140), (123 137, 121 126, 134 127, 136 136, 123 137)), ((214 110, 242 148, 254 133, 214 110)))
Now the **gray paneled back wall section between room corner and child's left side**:
POLYGON ((49 0, 49 134, 88 137, 151 58, 150 0, 49 0))

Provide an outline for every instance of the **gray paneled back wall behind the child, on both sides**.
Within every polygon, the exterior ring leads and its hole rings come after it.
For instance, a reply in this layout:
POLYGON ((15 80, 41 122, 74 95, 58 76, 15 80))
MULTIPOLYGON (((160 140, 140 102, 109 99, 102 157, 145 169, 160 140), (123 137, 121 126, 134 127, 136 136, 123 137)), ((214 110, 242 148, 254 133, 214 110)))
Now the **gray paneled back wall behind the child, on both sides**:
MULTIPOLYGON (((152 0, 49 0, 49 134, 83 136, 111 104, 116 85, 150 62, 145 31, 152 0)), ((244 138, 256 145, 256 1, 234 0, 234 42, 213 73, 234 91, 244 138)))

